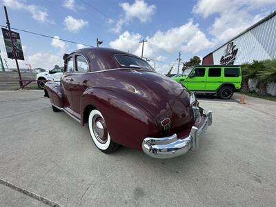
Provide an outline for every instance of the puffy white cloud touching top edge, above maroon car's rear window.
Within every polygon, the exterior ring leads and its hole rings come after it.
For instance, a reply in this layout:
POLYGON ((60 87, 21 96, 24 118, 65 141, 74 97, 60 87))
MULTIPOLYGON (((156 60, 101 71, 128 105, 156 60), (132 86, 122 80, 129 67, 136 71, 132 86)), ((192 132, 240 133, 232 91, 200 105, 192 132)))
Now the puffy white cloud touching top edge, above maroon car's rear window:
POLYGON ((155 5, 148 5, 144 0, 135 0, 132 5, 124 2, 120 3, 120 6, 125 12, 126 19, 137 18, 141 22, 149 21, 156 9, 155 5))

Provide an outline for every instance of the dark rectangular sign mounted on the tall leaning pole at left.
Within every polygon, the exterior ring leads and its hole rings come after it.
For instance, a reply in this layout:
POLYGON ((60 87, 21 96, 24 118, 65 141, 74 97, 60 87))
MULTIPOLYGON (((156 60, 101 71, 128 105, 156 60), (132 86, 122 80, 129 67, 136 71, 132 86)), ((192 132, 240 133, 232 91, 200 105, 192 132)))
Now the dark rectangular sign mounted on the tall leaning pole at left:
POLYGON ((12 32, 12 40, 14 44, 14 48, 12 48, 12 42, 10 41, 9 31, 4 28, 1 28, 1 29, 3 32, 3 38, 4 38, 8 58, 14 59, 14 57, 17 57, 17 59, 24 60, 19 33, 12 32))

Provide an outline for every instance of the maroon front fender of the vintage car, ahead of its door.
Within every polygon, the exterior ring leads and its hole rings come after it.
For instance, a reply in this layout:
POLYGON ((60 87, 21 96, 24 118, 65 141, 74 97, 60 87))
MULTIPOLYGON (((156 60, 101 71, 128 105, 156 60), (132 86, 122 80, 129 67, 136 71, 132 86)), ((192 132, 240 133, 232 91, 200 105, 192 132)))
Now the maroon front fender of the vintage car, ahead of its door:
POLYGON ((59 108, 63 108, 64 90, 60 83, 49 81, 45 84, 44 90, 48 92, 48 97, 52 104, 59 108))

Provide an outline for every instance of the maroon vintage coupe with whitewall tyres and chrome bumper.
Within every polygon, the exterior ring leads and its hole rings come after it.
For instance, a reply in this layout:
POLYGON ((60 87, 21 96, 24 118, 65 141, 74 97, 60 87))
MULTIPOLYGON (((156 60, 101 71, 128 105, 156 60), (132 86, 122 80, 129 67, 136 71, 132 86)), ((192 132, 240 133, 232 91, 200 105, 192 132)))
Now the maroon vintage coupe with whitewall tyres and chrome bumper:
POLYGON ((64 55, 61 82, 47 82, 52 109, 84 125, 99 150, 119 145, 170 158, 198 148, 212 112, 195 95, 160 75, 144 59, 109 48, 84 48, 64 55))

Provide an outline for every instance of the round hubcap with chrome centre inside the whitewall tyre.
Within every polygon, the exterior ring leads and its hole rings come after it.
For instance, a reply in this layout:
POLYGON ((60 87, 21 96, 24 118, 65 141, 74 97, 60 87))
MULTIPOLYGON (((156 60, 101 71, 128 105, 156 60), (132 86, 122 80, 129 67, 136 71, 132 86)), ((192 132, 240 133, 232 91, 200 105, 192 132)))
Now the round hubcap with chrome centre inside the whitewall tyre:
POLYGON ((108 130, 106 129, 106 122, 103 117, 95 115, 92 119, 92 128, 97 140, 104 144, 108 140, 108 130))

